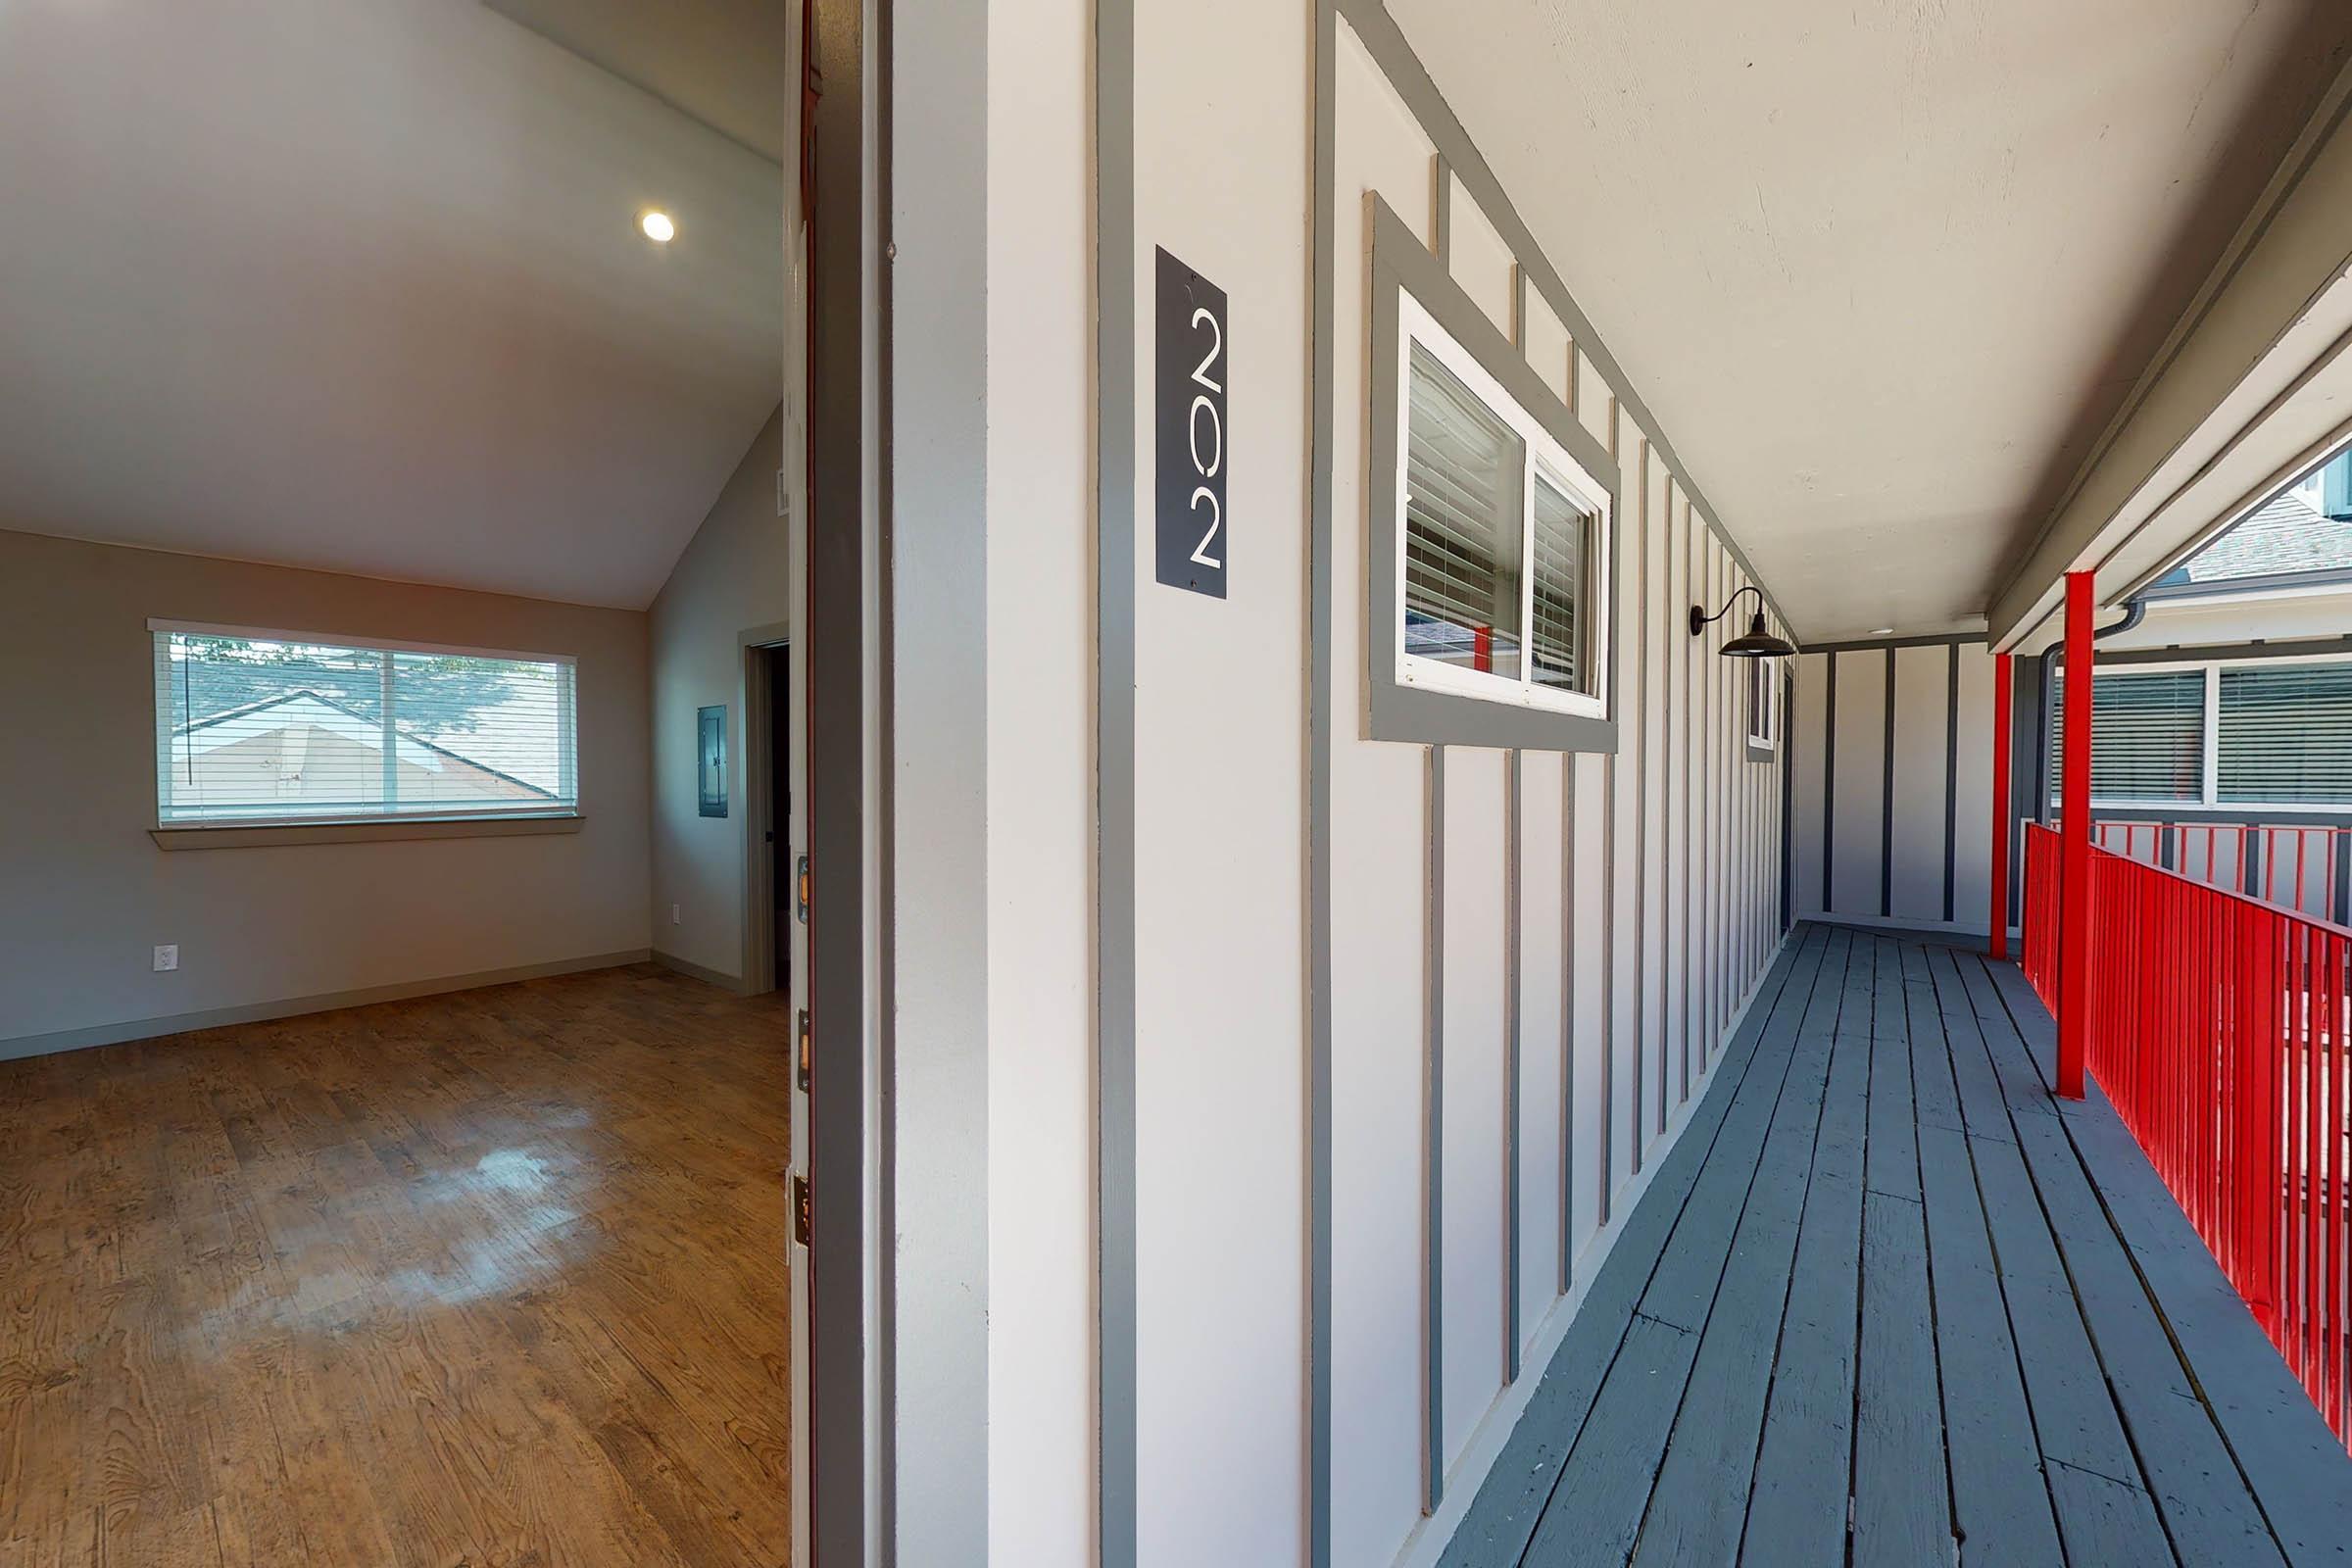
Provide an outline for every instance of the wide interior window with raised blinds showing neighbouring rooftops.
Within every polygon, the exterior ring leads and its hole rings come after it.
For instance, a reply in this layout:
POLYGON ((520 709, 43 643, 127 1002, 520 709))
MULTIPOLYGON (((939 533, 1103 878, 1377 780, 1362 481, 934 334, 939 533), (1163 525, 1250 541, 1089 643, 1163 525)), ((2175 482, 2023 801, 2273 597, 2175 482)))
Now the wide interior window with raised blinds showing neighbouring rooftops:
POLYGON ((158 825, 579 809, 569 658, 151 632, 158 825))

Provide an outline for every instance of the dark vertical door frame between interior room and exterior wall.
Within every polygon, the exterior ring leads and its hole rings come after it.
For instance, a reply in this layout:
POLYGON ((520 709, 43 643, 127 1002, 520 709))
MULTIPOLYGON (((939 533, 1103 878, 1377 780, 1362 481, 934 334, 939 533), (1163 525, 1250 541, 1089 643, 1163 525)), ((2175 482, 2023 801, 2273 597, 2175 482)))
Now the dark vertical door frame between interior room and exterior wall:
MULTIPOLYGON (((809 1246, 793 1248, 795 1568, 866 1568, 889 1554, 889 1269, 882 1232, 894 1157, 887 1072, 887 607, 889 5, 802 0, 800 223, 786 235, 788 534, 800 559, 788 708, 804 788, 795 856, 809 858, 795 1004, 809 1009, 809 1093, 795 1086, 795 1175, 809 1246), (818 1112, 823 1105, 823 1114, 818 1112), (804 1458, 802 1458, 804 1455, 804 1458)), ((795 179, 797 176, 797 179, 795 179)), ((797 1041, 795 1041, 797 1044, 797 1041)), ((797 1058, 797 1051, 795 1051, 797 1058)))

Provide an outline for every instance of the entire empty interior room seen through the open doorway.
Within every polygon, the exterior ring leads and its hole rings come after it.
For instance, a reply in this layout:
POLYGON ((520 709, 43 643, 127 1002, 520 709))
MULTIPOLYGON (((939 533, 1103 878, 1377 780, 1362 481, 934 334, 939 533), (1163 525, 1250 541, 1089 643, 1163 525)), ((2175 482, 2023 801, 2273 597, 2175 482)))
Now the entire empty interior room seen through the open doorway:
POLYGON ((9 1563, 790 1549, 800 19, 659 9, 0 12, 9 1563))

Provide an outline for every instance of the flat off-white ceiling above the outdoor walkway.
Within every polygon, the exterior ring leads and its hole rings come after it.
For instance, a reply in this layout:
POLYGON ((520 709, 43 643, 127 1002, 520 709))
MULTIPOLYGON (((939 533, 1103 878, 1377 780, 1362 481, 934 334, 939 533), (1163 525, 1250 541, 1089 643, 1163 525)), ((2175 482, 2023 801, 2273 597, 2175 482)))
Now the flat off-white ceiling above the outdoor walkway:
POLYGON ((2340 0, 1388 0, 1811 639, 1978 616, 2340 0))

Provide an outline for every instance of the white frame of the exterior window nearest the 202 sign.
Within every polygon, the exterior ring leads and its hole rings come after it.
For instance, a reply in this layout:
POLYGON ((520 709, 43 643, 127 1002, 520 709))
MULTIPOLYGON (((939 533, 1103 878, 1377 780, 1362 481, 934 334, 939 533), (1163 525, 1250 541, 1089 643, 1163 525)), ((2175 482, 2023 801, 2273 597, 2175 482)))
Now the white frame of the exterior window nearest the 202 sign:
MULTIPOLYGON (((1609 717, 1609 635, 1611 635, 1611 604, 1609 604, 1609 574, 1606 562, 1613 559, 1611 548, 1611 505, 1609 489, 1595 480, 1583 463, 1569 456, 1566 447, 1552 440, 1552 433, 1543 423, 1519 407, 1501 381, 1486 374, 1486 367, 1463 348, 1451 331, 1446 331, 1435 315, 1414 299, 1411 289, 1397 289, 1397 473, 1390 477, 1390 494, 1397 503, 1397 538, 1395 538, 1395 583, 1397 602, 1385 607, 1390 628, 1397 639, 1397 684, 1418 686, 1423 691, 1444 691, 1451 696, 1465 696, 1482 703, 1498 703, 1505 708, 1534 708, 1541 712, 1564 712, 1583 719, 1606 719, 1609 717), (1414 346, 1425 348, 1439 364, 1444 364, 1454 376, 1461 378, 1470 393, 1486 404, 1486 411, 1498 421, 1510 425, 1510 430, 1522 442, 1519 475, 1519 675, 1491 675, 1484 670, 1463 670, 1461 665, 1449 665, 1437 658, 1423 658, 1404 649, 1404 583, 1406 583, 1406 543, 1411 538, 1411 527, 1404 517, 1406 496, 1406 463, 1411 454, 1411 418, 1414 418, 1414 346), (1557 686, 1543 686, 1536 682, 1536 480, 1543 480, 1559 494, 1569 498, 1571 505, 1585 510, 1592 517, 1592 538, 1583 559, 1583 604, 1578 604, 1578 616, 1583 623, 1583 642, 1578 649, 1578 679, 1590 684, 1590 691, 1562 691, 1557 686)), ((1376 607, 1378 611, 1381 607, 1376 607)))

